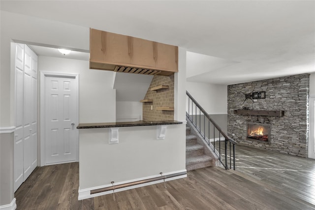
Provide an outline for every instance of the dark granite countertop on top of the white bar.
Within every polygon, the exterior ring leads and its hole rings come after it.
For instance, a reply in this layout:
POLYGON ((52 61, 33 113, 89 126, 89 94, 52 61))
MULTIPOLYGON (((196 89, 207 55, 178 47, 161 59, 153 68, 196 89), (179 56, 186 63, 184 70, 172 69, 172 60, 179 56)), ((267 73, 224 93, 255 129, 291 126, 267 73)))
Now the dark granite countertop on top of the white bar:
POLYGON ((80 123, 77 129, 86 128, 103 128, 103 127, 130 127, 130 126, 146 126, 146 125, 172 125, 183 124, 176 120, 162 120, 162 121, 133 121, 133 122, 97 122, 97 123, 80 123))

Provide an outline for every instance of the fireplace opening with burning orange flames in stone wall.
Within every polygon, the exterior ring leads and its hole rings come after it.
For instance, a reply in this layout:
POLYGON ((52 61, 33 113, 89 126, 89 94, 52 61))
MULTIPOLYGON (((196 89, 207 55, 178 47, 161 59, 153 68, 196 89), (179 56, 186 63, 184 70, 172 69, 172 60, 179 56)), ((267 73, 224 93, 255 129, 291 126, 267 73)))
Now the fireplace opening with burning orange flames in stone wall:
POLYGON ((247 139, 270 143, 270 124, 248 122, 247 139))

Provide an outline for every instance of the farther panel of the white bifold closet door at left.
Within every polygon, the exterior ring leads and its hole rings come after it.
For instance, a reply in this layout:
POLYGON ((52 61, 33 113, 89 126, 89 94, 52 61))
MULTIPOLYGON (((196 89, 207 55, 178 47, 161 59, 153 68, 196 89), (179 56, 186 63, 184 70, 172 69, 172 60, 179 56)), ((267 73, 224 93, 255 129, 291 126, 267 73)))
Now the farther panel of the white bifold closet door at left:
POLYGON ((37 55, 24 48, 24 181, 37 166, 37 55))

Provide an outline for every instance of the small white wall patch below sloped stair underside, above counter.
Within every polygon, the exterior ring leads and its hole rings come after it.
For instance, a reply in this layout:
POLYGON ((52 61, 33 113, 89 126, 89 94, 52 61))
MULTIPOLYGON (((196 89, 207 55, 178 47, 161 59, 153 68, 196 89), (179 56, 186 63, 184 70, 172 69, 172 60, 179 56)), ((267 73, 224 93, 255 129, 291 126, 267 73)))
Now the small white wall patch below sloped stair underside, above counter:
POLYGON ((116 122, 142 120, 142 103, 139 101, 116 101, 116 122))

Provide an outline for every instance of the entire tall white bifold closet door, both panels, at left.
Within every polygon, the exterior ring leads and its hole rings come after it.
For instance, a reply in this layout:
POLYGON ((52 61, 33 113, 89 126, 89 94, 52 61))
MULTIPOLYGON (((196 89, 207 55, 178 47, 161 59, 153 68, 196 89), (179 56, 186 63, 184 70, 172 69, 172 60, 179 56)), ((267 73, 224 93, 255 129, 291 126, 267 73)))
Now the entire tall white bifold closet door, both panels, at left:
POLYGON ((37 166, 37 55, 15 44, 14 191, 37 166))

